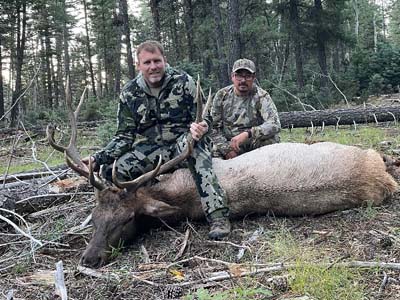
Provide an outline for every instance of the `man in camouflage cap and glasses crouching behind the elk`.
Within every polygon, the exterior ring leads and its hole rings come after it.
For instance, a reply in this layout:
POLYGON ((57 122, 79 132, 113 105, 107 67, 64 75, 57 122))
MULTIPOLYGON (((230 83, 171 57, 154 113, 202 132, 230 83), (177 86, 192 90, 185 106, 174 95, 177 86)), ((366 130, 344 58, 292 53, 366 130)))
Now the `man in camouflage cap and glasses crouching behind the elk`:
POLYGON ((255 78, 254 62, 239 59, 232 68, 233 84, 216 93, 211 108, 213 156, 231 159, 279 142, 278 112, 255 78))

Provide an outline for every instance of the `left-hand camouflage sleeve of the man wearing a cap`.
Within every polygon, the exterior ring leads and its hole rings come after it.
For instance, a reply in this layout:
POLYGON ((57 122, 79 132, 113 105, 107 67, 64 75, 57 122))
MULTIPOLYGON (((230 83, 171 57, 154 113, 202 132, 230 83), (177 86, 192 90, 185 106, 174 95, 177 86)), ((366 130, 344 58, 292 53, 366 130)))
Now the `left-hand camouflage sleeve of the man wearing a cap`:
POLYGON ((223 133, 223 122, 222 122, 222 101, 224 99, 224 90, 219 90, 214 97, 213 104, 211 106, 211 121, 212 121, 212 132, 211 139, 214 144, 214 148, 218 150, 223 156, 232 151, 229 141, 226 139, 223 133))

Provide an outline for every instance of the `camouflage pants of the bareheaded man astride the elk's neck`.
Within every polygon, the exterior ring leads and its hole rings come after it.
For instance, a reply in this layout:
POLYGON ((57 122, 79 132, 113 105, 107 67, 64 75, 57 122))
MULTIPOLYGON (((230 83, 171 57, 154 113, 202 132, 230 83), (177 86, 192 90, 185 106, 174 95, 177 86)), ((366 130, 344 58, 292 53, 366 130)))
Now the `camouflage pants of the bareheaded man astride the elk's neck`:
MULTIPOLYGON (((117 176, 121 181, 135 179, 143 173, 153 170, 158 163, 159 155, 161 155, 162 161, 166 162, 182 153, 185 147, 186 136, 184 135, 178 138, 176 144, 169 146, 137 144, 130 152, 125 153, 117 160, 117 176)), ((178 167, 187 167, 192 173, 208 220, 214 217, 228 216, 226 195, 212 168, 208 142, 204 139, 196 142, 192 155, 178 167)), ((103 166, 101 173, 103 178, 112 181, 112 165, 103 166)))

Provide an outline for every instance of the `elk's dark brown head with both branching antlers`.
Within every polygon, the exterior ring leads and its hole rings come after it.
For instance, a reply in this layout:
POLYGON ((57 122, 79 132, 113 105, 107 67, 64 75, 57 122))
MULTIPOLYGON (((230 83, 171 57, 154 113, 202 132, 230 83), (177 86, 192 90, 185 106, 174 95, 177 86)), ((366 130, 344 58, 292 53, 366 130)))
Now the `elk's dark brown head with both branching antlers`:
MULTIPOLYGON (((165 217, 179 210, 178 207, 170 206, 162 201, 149 197, 145 188, 139 189, 144 183, 153 179, 158 174, 171 170, 175 165, 185 160, 192 152, 194 141, 188 135, 188 146, 184 152, 172 160, 161 164, 161 157, 157 167, 142 176, 128 182, 120 182, 117 179, 115 162, 113 166, 113 183, 102 180, 94 174, 89 160, 86 166, 80 158, 76 146, 77 138, 77 116, 82 105, 85 91, 75 110, 72 109, 72 98, 67 79, 66 102, 68 116, 71 126, 71 138, 67 147, 60 146, 54 139, 54 127, 47 126, 47 138, 49 144, 56 150, 65 154, 68 166, 76 173, 86 177, 95 188, 96 207, 92 211, 93 234, 89 244, 84 251, 81 264, 88 267, 98 268, 107 263, 113 248, 121 246, 121 243, 133 240, 136 235, 136 220, 141 215, 152 217, 165 217)), ((203 112, 201 101, 201 89, 197 81, 197 115, 196 122, 200 122, 206 111, 203 112)), ((211 92, 207 103, 211 101, 211 92)), ((208 107, 208 105, 206 105, 208 107)))

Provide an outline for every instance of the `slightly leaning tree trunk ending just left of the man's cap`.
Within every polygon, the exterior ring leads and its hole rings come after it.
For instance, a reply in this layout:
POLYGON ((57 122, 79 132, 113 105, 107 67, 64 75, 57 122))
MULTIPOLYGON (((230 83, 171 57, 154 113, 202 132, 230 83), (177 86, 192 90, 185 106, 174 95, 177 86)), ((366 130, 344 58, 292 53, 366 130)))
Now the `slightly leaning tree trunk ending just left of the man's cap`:
POLYGON ((221 10, 219 7, 219 0, 212 0, 212 11, 214 14, 215 22, 215 44, 216 44, 216 57, 218 58, 218 82, 219 86, 226 86, 229 84, 229 68, 225 59, 225 39, 222 30, 221 10))

